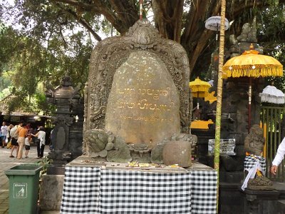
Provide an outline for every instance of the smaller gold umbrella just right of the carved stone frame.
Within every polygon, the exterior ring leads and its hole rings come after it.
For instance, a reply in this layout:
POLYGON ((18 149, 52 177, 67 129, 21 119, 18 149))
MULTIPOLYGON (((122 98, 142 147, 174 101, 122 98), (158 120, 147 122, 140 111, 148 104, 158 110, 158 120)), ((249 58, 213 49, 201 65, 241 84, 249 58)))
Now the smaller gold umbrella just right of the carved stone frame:
MULTIPOLYGON (((191 81, 189 83, 191 88, 192 97, 202 98, 206 95, 211 85, 205 81, 199 79, 199 77, 195 78, 195 81, 191 81)), ((197 102, 197 109, 199 109, 199 102, 197 102)))

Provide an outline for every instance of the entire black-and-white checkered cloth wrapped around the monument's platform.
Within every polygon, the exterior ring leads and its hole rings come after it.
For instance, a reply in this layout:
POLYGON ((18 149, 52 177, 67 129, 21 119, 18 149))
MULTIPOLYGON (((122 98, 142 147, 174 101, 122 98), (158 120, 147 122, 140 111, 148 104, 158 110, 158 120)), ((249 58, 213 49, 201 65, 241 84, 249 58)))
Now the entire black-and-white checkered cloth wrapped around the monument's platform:
POLYGON ((61 213, 216 213, 217 173, 66 167, 61 213), (92 175, 93 174, 93 175, 92 175))

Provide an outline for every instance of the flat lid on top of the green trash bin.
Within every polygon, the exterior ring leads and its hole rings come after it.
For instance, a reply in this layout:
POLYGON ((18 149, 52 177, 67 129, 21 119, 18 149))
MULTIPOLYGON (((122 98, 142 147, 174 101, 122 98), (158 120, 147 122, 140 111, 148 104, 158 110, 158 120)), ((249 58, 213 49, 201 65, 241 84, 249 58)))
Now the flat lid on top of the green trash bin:
POLYGON ((43 167, 41 165, 16 165, 5 171, 6 175, 36 175, 43 167))

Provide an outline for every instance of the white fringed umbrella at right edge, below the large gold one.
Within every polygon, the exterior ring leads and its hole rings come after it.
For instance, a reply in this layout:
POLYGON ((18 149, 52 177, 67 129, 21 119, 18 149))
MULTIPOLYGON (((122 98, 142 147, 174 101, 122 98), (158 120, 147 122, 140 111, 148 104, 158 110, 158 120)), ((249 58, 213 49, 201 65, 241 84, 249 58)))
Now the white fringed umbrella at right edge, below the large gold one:
POLYGON ((261 102, 276 104, 285 103, 284 93, 275 86, 266 86, 262 93, 259 93, 259 96, 261 97, 261 102))

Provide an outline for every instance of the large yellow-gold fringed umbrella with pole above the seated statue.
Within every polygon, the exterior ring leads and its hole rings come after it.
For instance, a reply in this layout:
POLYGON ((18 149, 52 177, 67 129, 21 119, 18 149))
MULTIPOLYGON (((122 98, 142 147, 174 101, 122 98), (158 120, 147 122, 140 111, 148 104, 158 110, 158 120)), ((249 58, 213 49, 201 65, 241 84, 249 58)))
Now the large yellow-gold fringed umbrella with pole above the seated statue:
POLYGON ((265 76, 283 76, 282 64, 271 56, 259 54, 250 46, 249 51, 244 54, 230 58, 222 67, 223 78, 228 77, 249 77, 249 129, 251 126, 251 105, 252 105, 252 78, 265 76))

